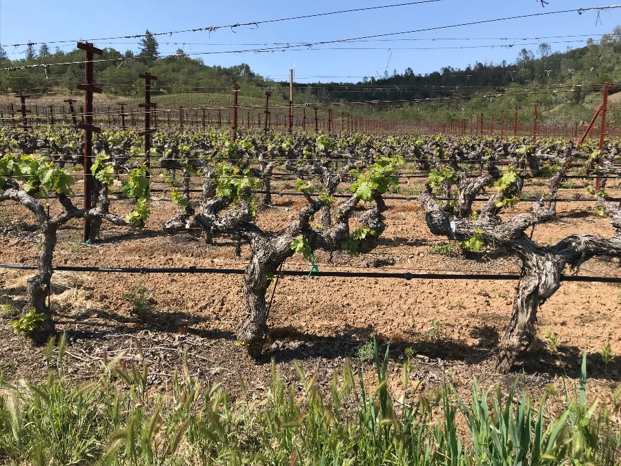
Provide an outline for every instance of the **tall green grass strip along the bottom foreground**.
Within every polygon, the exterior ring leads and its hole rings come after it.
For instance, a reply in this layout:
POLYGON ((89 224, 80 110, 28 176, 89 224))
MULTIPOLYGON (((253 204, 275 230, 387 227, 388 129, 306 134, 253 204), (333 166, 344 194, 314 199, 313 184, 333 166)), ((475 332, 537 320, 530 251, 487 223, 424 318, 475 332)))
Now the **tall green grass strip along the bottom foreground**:
MULTIPOLYGON (((485 391, 473 382, 466 402, 450 383, 400 402, 388 392, 388 350, 374 347, 377 385, 348 362, 327 389, 297 368, 302 393, 275 367, 264 400, 204 389, 187 365, 152 394, 146 367, 123 370, 122 356, 97 382, 77 387, 63 374, 64 341, 43 383, 2 382, 0 463, 34 465, 615 465, 619 426, 608 408, 586 402, 586 357, 563 412, 544 413, 513 387, 485 391), (375 385, 375 384, 374 384, 375 385), (457 419, 462 434, 458 433, 457 419)), ((408 389, 409 367, 402 384, 408 389)), ((618 402, 619 390, 615 394, 618 402)), ((614 409, 618 409, 615 405, 614 409)))

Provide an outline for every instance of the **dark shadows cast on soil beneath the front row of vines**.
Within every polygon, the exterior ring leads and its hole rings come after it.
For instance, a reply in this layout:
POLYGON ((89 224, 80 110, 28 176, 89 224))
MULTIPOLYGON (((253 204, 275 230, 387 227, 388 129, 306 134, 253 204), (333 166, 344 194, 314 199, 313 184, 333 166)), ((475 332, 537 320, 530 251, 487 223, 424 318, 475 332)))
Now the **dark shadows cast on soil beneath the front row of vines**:
MULTIPOLYGON (((6 291, 5 291, 6 293, 6 291)), ((219 329, 195 329, 193 326, 204 321, 191 313, 157 312, 148 315, 147 320, 138 320, 118 313, 89 309, 83 314, 55 316, 59 327, 66 332, 69 341, 95 340, 104 336, 118 336, 120 334, 133 335, 145 330, 158 331, 170 334, 188 334, 204 338, 205 340, 224 340, 225 350, 232 351, 230 344, 235 342, 235 333, 219 329), (92 316, 95 316, 94 318, 92 316)), ((303 333, 294 327, 270 329, 264 344, 263 354, 257 363, 266 365, 270 360, 275 362, 293 362, 294 360, 337 358, 358 358, 361 344, 372 340, 374 329, 366 327, 345 327, 336 336, 317 336, 313 333, 303 333)), ((389 358, 404 360, 406 350, 418 362, 428 362, 442 365, 442 362, 464 362, 467 365, 480 365, 491 362, 495 358, 499 342, 499 333, 495 327, 482 325, 470 333, 470 337, 477 339, 476 344, 465 344, 447 338, 433 340, 424 336, 402 338, 395 336, 376 335, 386 351, 390 344, 389 358)), ((582 349, 578 347, 562 346, 557 355, 546 350, 541 341, 533 342, 531 349, 513 367, 513 373, 529 375, 546 374, 549 376, 580 377, 582 349)), ((239 349, 239 351, 242 351, 239 349)), ((606 367, 600 353, 587 353, 587 376, 589 378, 619 380, 621 378, 621 358, 616 358, 606 367)), ((226 360, 226 356, 223 356, 226 360)))

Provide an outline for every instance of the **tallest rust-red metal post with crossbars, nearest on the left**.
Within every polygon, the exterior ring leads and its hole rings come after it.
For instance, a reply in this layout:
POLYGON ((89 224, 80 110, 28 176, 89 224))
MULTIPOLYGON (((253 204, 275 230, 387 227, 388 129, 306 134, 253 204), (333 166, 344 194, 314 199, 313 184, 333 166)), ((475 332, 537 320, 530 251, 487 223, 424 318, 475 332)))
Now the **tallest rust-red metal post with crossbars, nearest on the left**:
MULTIPOLYGON (((103 50, 95 48, 92 43, 78 42, 77 48, 84 50, 86 55, 86 61, 84 62, 84 84, 78 84, 77 88, 84 91, 84 122, 79 124, 78 127, 84 130, 84 210, 92 208, 92 193, 94 186, 92 183, 92 173, 90 167, 92 165, 92 133, 99 133, 100 128, 93 126, 92 124, 92 94, 101 93, 101 88, 95 86, 93 83, 93 55, 103 54, 103 50)), ((82 230, 82 241, 89 242, 94 239, 90 234, 90 220, 84 219, 82 230)))

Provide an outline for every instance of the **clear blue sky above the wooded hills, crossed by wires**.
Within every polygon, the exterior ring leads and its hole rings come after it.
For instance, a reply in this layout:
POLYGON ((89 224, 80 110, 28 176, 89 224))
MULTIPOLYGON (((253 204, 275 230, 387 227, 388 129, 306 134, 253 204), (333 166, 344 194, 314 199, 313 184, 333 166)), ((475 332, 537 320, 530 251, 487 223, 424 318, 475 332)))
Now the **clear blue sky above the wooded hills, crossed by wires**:
MULTIPOLYGON (((403 3, 406 0, 343 1, 121 1, 109 0, 95 6, 88 2, 62 0, 0 0, 0 43, 56 41, 115 37, 152 32, 219 26, 303 14, 331 12, 351 8, 403 3), (22 19, 23 18, 23 19, 22 19)), ((416 73, 439 70, 443 66, 463 68, 476 61, 503 59, 514 61, 521 48, 536 51, 538 43, 549 43, 553 50, 565 50, 584 44, 586 37, 499 40, 497 38, 531 38, 556 35, 590 35, 598 39, 621 25, 621 9, 566 13, 539 18, 499 21, 479 26, 462 26, 431 32, 383 37, 382 41, 335 43, 313 46, 309 50, 222 55, 199 55, 200 52, 239 50, 271 46, 272 43, 329 41, 368 35, 432 28, 468 21, 480 21, 520 14, 551 12, 572 8, 613 5, 615 1, 549 0, 542 8, 539 0, 440 0, 412 6, 335 14, 299 19, 258 27, 223 28, 215 32, 181 33, 158 37, 164 55, 183 48, 206 64, 230 66, 247 63, 262 75, 287 79, 288 69, 295 67, 296 81, 358 81, 363 76, 403 72, 411 67, 416 73), (409 39, 392 40, 386 39, 409 39), (416 40, 411 40, 416 39, 416 40), (420 40, 422 39, 422 40, 420 40), (435 40, 431 40, 435 39, 435 40), (574 41, 574 42, 566 42, 574 41), (560 42, 560 43, 555 43, 560 42), (502 45, 515 43, 513 48, 502 45), (523 45, 527 43, 529 45, 523 45), (222 45, 224 44, 224 45, 222 45), (257 44, 256 46, 239 44, 257 44), (260 44, 260 45, 259 45, 260 44), (482 48, 458 48, 484 46, 482 48), (491 46, 494 46, 493 48, 491 46), (444 47, 444 48, 442 48, 444 47), (350 50, 333 50, 350 48, 350 50), (353 48, 366 48, 359 50, 353 48), (413 50, 432 48, 431 50, 413 50), (319 50, 324 49, 324 50, 319 50), (198 55, 194 55, 198 54, 198 55)), ((50 44, 55 48, 57 44, 50 44)), ((75 43, 60 44, 63 50, 75 43)), ((96 41, 101 48, 137 50, 137 39, 96 41), (115 42, 115 43, 111 43, 115 42)), ((5 47, 11 58, 23 57, 24 47, 5 47)))

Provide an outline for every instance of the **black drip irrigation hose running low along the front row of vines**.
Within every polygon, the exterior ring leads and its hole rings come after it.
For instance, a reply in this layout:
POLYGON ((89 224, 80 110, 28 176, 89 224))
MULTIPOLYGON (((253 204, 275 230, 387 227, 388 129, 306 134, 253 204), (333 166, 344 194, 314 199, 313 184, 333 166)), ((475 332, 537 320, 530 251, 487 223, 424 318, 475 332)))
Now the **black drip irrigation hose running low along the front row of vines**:
MULTIPOLYGON (((36 270, 36 265, 23 264, 0 264, 2 269, 36 270)), ((52 271, 66 272, 101 272, 101 273, 217 273, 223 275, 243 275, 244 269, 217 269, 213 267, 92 267, 92 266, 55 266, 52 271)), ((306 271, 284 270, 285 276, 308 277, 306 271)), ((494 273, 391 273, 391 272, 313 272, 313 277, 336 277, 336 278, 400 278, 403 280, 431 279, 431 280, 520 280, 517 274, 494 274, 494 273)), ((560 275, 562 282, 598 282, 598 283, 621 283, 621 277, 596 277, 589 275, 560 275)))

